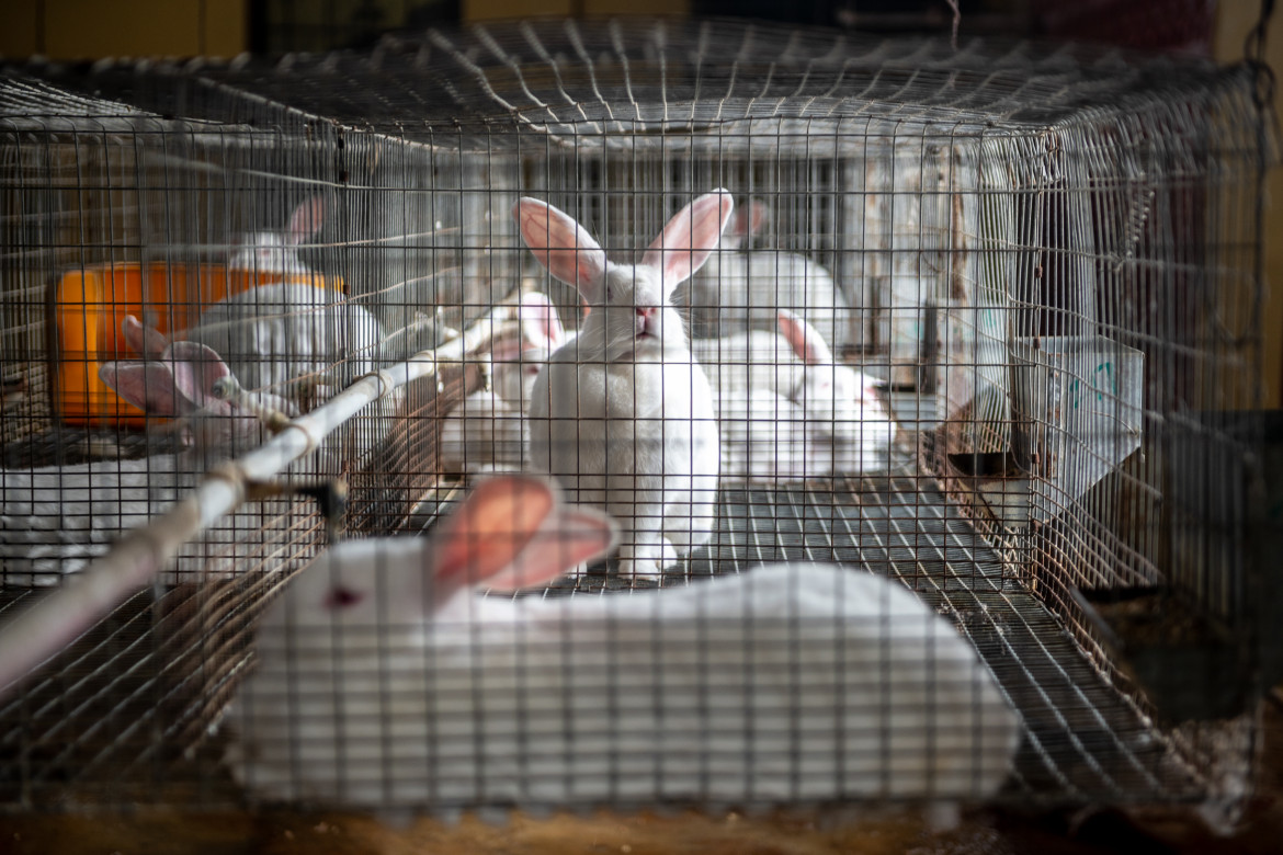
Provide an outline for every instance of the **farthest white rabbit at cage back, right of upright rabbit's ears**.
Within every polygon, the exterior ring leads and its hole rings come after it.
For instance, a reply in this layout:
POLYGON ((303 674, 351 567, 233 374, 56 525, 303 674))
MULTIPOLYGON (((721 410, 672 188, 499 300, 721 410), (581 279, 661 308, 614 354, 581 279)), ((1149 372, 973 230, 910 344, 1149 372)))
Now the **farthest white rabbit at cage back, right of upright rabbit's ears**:
POLYGON ((769 217, 769 208, 757 200, 740 208, 721 251, 674 292, 674 303, 689 311, 697 340, 745 329, 770 332, 776 310, 792 309, 840 349, 851 341, 851 309, 833 274, 795 253, 748 249, 769 217))

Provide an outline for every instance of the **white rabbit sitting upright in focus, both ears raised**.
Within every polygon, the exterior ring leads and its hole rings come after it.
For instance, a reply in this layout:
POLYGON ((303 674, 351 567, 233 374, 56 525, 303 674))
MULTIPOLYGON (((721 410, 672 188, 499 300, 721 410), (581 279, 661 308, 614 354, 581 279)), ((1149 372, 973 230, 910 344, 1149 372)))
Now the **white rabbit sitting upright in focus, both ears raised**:
POLYGON ((717 246, 731 206, 724 190, 694 200, 638 265, 608 261, 547 203, 527 197, 513 208, 539 263, 591 309, 535 382, 531 464, 571 501, 620 522, 625 578, 675 564, 712 535, 721 454, 712 392, 668 297, 717 246))

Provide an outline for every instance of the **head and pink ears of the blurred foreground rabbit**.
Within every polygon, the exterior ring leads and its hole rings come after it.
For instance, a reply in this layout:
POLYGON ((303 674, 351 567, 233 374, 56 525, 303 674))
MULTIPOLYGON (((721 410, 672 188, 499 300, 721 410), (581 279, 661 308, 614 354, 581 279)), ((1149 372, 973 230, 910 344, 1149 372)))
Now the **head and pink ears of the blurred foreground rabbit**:
POLYGON ((547 585, 615 545, 611 519, 570 508, 552 482, 500 476, 480 482, 427 541, 346 541, 289 587, 264 623, 294 627, 420 626, 475 590, 547 585))

